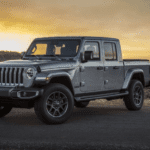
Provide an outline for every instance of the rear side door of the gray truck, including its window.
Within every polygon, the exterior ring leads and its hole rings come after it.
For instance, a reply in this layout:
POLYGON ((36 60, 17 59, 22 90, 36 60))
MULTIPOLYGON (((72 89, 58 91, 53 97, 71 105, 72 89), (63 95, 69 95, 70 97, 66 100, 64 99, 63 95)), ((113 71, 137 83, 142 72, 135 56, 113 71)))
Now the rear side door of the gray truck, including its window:
POLYGON ((120 45, 117 41, 103 41, 104 50, 104 89, 120 90, 124 82, 123 61, 119 60, 121 56, 120 45), (118 51, 117 51, 118 49, 118 51), (118 52, 118 53, 117 53, 118 52))

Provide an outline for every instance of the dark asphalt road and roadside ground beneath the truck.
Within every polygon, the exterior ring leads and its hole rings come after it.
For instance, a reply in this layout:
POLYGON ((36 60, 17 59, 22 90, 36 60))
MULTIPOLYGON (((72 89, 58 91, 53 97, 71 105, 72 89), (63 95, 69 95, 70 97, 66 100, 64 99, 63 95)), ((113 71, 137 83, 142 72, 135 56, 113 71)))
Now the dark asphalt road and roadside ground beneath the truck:
POLYGON ((14 108, 0 119, 0 149, 148 150, 150 100, 140 111, 128 111, 122 100, 93 101, 61 125, 41 123, 34 109, 14 108))

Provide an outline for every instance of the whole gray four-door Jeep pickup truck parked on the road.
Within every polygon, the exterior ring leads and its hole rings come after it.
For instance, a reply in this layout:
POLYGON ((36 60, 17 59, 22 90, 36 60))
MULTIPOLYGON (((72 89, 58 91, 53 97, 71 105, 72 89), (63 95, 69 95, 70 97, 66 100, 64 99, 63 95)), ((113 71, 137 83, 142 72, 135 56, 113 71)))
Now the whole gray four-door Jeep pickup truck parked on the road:
POLYGON ((115 38, 36 38, 22 59, 0 63, 0 117, 34 107, 42 122, 59 124, 96 99, 140 110, 149 74, 149 60, 123 60, 115 38))

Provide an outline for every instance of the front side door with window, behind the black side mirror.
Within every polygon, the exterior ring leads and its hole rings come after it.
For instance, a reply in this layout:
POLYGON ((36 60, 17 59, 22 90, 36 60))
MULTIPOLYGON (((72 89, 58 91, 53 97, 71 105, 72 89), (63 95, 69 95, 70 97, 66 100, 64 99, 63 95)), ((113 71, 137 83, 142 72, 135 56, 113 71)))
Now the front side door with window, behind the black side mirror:
POLYGON ((81 91, 96 92, 101 91, 103 82, 103 62, 100 57, 100 45, 98 41, 87 41, 84 44, 84 51, 93 51, 93 59, 88 62, 81 63, 81 91))

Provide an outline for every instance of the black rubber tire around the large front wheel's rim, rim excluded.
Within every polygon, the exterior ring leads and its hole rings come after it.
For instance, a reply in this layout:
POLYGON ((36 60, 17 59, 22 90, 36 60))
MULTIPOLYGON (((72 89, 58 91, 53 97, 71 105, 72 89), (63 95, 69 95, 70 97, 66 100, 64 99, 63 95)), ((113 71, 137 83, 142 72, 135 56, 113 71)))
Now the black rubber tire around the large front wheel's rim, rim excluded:
POLYGON ((37 117, 46 124, 60 124, 67 121, 73 112, 73 108, 74 108, 74 99, 71 91, 65 85, 59 83, 52 83, 50 84, 49 87, 45 88, 43 96, 41 96, 41 98, 35 101, 34 104, 34 110, 37 117), (68 107, 66 107, 67 109, 64 115, 56 118, 51 116, 51 114, 49 114, 47 110, 46 102, 47 102, 47 98, 51 94, 58 91, 63 93, 68 99, 68 105, 67 105, 68 107))

